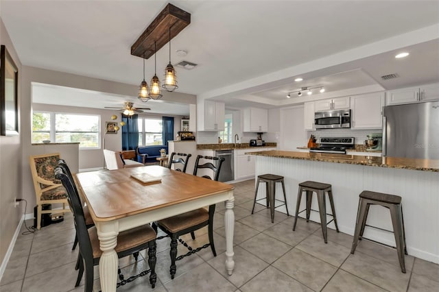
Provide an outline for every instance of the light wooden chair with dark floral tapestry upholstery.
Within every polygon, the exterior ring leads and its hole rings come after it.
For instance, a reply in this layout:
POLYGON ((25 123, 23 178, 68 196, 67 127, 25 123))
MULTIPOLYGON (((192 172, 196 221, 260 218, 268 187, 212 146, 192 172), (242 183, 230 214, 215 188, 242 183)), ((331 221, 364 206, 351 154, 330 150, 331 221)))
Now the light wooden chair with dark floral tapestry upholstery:
POLYGON ((70 212, 67 208, 67 193, 55 178, 55 168, 60 159, 59 153, 33 155, 29 157, 30 171, 36 195, 36 229, 41 228, 42 214, 70 212), (62 209, 43 210, 43 204, 62 204, 62 209))

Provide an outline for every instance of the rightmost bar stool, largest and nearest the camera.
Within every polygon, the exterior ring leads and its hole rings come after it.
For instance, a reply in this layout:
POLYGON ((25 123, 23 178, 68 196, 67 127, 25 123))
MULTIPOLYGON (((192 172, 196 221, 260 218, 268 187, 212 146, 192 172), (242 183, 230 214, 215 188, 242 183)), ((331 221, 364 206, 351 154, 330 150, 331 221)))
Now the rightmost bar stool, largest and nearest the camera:
POLYGON ((405 245, 403 207, 401 205, 401 197, 399 197, 398 195, 389 195, 372 191, 362 191, 361 194, 359 194, 357 221, 355 223, 355 233, 352 243, 351 254, 355 252, 358 240, 361 240, 363 238, 364 228, 366 227, 366 220, 368 217, 370 205, 379 205, 390 210, 393 231, 384 230, 369 225, 368 227, 392 232, 394 234, 399 265, 401 266, 401 271, 405 273, 404 254, 407 254, 407 246, 405 245))

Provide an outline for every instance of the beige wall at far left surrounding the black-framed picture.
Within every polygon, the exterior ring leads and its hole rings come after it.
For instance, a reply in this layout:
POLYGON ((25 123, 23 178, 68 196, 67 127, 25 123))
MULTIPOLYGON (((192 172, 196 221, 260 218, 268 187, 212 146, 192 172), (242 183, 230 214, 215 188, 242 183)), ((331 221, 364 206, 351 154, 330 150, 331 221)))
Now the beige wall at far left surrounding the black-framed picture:
MULTIPOLYGON (((0 43, 5 45, 19 68, 19 109, 23 104, 21 95, 22 66, 16 55, 5 25, 0 18, 0 43)), ((14 208, 14 197, 21 197, 21 143, 23 126, 19 127, 19 136, 0 136, 0 263, 3 263, 16 227, 23 215, 23 204, 14 208)))

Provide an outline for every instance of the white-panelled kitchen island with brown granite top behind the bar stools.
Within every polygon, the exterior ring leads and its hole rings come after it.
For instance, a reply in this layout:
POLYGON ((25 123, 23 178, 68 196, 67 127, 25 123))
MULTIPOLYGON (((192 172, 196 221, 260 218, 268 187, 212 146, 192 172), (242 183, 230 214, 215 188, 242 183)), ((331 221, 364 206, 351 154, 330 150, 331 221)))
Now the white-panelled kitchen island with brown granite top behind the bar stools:
MULTIPOLYGON (((347 234, 354 232, 361 191, 401 196, 407 252, 439 263, 439 160, 276 150, 248 154, 257 158, 256 176, 264 173, 284 176, 290 214, 296 210, 300 182, 332 184, 338 226, 347 234)), ((281 199, 281 195, 281 186, 276 186, 276 198, 281 199)), ((257 198, 263 197, 265 189, 259 188, 257 198)), ((304 201, 300 210, 305 209, 304 201)), ((313 210, 318 210, 316 201, 313 199, 313 210)), ((285 212, 285 207, 276 210, 285 212)), ((311 220, 320 221, 318 212, 311 212, 311 220)), ((381 206, 371 206, 367 224, 392 230, 390 212, 381 206)), ((333 223, 328 227, 335 229, 333 223)), ((364 236, 394 246, 393 234, 389 232, 366 228, 364 236)))

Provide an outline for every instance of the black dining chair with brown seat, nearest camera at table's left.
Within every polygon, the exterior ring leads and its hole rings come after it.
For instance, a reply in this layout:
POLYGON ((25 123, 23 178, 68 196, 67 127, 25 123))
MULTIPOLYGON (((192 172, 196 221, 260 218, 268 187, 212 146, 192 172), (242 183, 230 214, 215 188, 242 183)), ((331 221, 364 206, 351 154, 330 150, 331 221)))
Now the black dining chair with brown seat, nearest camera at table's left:
MULTIPOLYGON (((71 182, 67 173, 62 167, 55 169, 56 179, 62 182, 62 185, 67 190, 68 202, 71 210, 73 210, 73 217, 75 222, 76 234, 78 236, 78 243, 80 245, 80 267, 78 278, 75 287, 78 287, 82 275, 85 270, 85 286, 84 291, 93 291, 93 267, 99 265, 99 259, 102 256, 102 250, 99 247, 99 239, 97 237, 97 229, 95 226, 91 228, 86 227, 84 211, 79 199, 78 193, 75 193, 73 182, 71 182)), ((120 232, 117 236, 117 246, 115 251, 118 258, 123 258, 134 252, 148 249, 148 265, 150 266, 150 283, 154 289, 157 281, 155 272, 156 267, 156 232, 149 224, 139 226, 120 232)))

